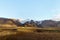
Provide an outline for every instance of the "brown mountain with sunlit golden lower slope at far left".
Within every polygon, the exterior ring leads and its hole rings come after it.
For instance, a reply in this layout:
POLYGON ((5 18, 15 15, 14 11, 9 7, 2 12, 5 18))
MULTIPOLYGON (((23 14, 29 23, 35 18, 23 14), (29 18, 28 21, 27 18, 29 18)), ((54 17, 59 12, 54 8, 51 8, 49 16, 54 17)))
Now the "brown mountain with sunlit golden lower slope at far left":
POLYGON ((20 22, 17 19, 9 19, 9 18, 0 18, 0 28, 7 28, 7 27, 17 27, 20 26, 20 22))

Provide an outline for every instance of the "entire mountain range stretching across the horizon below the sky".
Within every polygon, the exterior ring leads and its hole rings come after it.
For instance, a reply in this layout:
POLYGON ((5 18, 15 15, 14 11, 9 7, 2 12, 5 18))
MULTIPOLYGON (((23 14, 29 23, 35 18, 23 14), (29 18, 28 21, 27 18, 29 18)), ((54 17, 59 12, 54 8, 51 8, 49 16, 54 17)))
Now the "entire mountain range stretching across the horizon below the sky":
POLYGON ((23 20, 0 18, 0 27, 60 27, 60 21, 54 20, 23 20))

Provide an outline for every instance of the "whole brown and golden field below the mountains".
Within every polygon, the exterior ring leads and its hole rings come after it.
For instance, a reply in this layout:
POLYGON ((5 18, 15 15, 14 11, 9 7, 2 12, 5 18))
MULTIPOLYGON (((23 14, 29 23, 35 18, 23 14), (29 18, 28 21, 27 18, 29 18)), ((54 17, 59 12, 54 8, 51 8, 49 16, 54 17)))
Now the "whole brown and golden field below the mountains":
POLYGON ((60 40, 60 28, 18 27, 0 31, 0 40, 60 40))

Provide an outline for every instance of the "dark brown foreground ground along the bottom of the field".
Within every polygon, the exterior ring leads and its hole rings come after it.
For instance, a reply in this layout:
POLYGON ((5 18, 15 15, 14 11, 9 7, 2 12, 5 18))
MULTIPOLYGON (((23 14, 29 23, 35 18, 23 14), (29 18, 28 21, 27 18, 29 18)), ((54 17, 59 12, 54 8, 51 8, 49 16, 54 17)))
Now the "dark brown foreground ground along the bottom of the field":
POLYGON ((0 37, 1 40, 60 40, 60 33, 17 32, 15 35, 0 37))

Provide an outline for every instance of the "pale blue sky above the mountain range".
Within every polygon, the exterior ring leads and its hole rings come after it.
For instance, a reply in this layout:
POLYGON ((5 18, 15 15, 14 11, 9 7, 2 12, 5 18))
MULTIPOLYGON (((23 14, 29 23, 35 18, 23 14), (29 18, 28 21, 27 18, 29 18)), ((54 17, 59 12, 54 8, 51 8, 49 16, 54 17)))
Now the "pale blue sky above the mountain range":
POLYGON ((0 17, 60 20, 60 0, 0 0, 0 17))

